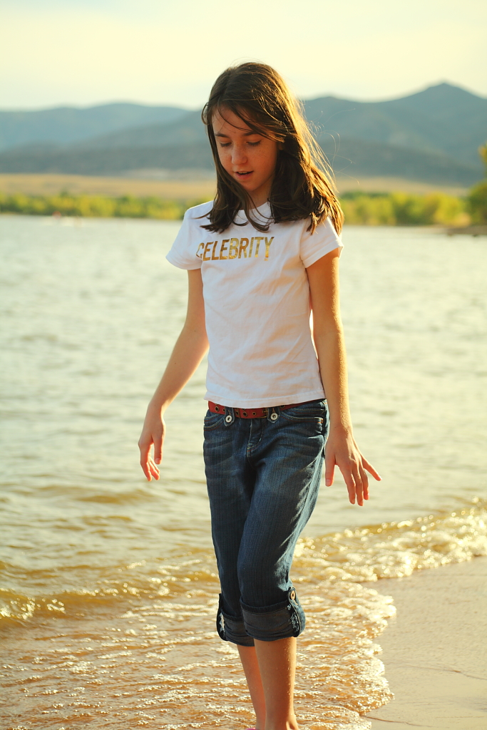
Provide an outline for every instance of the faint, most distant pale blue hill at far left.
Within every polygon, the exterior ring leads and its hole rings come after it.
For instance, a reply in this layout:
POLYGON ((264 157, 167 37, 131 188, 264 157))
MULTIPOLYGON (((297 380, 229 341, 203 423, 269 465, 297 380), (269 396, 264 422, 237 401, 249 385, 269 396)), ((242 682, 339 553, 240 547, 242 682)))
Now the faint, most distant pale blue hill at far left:
POLYGON ((0 150, 53 142, 67 145, 119 129, 153 123, 170 123, 188 113, 180 107, 150 107, 143 104, 103 104, 78 109, 58 107, 39 111, 0 111, 0 150))

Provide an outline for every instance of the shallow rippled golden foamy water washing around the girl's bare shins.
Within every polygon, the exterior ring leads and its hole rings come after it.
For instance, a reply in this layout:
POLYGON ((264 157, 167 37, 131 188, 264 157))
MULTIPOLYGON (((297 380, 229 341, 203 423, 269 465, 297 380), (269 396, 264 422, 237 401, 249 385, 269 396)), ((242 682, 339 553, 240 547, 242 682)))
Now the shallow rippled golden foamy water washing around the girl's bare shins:
MULTIPOLYGON (((161 568, 164 578, 175 578, 164 581, 171 590, 157 591, 166 595, 119 592, 96 604, 78 596, 65 599, 55 617, 47 615, 59 604, 51 600, 24 619, 22 641, 5 631, 1 685, 13 701, 9 726, 103 728, 107 716, 120 730, 250 726, 237 650, 215 632, 215 580, 167 573, 161 568)), ((359 713, 391 696, 372 641, 394 612, 390 599, 345 581, 302 586, 300 596, 307 630, 299 639, 296 704, 304 726, 368 727, 359 713)))

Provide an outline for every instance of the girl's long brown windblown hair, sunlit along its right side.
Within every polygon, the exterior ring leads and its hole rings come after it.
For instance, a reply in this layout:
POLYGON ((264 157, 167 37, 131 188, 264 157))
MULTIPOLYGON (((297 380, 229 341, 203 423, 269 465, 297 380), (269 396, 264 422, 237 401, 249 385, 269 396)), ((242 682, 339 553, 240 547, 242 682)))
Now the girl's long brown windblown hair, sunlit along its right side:
POLYGON ((313 232, 318 223, 329 217, 340 233, 343 213, 331 171, 304 120, 302 104, 294 99, 275 69, 255 63, 226 69, 215 81, 204 105, 202 120, 215 160, 217 192, 208 214, 210 223, 202 228, 223 233, 234 223, 237 212, 245 210, 247 220, 258 231, 269 229, 269 223, 264 225, 253 219, 250 195, 223 169, 218 156, 212 118, 217 111, 224 118, 225 110, 234 112, 256 134, 279 143, 269 195, 272 220, 282 223, 310 218, 308 231, 313 232))

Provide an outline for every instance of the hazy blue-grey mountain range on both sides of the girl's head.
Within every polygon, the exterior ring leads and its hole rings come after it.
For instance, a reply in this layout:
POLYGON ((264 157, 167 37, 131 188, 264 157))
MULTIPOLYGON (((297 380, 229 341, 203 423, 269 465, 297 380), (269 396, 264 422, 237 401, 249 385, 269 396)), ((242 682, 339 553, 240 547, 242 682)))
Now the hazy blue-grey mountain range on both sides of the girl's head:
MULTIPOLYGON (((483 177, 487 99, 442 83, 391 101, 304 101, 337 177, 472 185, 483 177)), ((0 172, 212 169, 199 111, 142 104, 0 112, 0 172)))

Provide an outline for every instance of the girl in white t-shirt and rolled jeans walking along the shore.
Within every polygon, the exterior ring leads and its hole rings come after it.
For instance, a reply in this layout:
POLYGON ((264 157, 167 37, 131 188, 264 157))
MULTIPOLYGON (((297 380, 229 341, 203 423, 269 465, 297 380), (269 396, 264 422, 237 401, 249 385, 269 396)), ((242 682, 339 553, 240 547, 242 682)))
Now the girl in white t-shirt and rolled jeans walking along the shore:
POLYGON ((326 484, 337 465, 352 504, 369 498, 367 471, 380 479, 358 450, 348 410, 343 216, 299 106, 270 66, 227 69, 202 117, 217 193, 186 212, 167 256, 188 270, 188 313, 147 409, 140 463, 147 480, 159 478, 164 411, 210 348, 204 464, 218 634, 238 647, 256 729, 296 730, 304 629, 289 578, 296 540, 323 460, 326 484))

